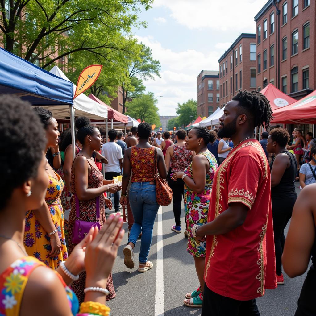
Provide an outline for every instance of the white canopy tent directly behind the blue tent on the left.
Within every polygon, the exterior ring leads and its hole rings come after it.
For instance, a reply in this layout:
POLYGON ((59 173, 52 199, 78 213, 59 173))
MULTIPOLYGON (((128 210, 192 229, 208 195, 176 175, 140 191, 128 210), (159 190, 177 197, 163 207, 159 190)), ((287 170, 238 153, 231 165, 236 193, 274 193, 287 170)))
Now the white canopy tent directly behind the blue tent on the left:
MULTIPOLYGON (((61 77, 67 81, 70 81, 67 76, 58 68, 54 66, 50 73, 61 77)), ((74 94, 76 92, 76 85, 74 85, 74 94)), ((52 113, 55 119, 68 119, 70 118, 70 128, 71 128, 71 139, 72 139, 72 148, 73 156, 75 157, 75 115, 76 116, 87 116, 89 119, 105 119, 107 120, 107 109, 105 106, 102 106, 98 102, 91 100, 85 94, 80 94, 74 99, 74 105, 56 105, 56 106, 43 106, 48 108, 52 113)), ((106 124, 106 123, 105 123, 106 124)))

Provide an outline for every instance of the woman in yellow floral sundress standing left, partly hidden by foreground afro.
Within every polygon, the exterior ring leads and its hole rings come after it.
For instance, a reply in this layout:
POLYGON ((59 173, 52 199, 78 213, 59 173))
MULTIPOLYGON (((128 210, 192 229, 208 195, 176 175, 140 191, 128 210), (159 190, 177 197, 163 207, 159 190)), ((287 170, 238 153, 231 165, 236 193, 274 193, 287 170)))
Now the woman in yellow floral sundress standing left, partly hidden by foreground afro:
MULTIPOLYGON (((46 151, 48 147, 58 144, 57 121, 52 112, 40 106, 33 107, 40 117, 45 129, 46 151)), ((60 155, 59 152, 54 155, 60 155)), ((46 170, 49 185, 46 191, 46 203, 39 210, 29 210, 25 218, 24 245, 29 256, 44 262, 52 269, 68 258, 65 232, 64 210, 61 205, 61 193, 64 189, 63 179, 47 163, 46 170)))

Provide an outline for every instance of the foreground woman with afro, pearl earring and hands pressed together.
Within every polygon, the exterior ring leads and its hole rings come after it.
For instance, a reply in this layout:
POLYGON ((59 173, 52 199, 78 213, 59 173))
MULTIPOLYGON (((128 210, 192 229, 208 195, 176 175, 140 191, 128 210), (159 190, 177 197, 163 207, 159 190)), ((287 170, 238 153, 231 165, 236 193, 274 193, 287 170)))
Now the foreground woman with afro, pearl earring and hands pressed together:
POLYGON ((124 235, 119 216, 109 218, 100 233, 91 229, 56 271, 28 257, 23 246, 25 212, 46 205, 46 133, 28 102, 1 96, 0 134, 6 137, 0 142, 0 314, 92 316, 102 310, 102 315, 108 315, 105 288, 124 235), (87 289, 79 313, 69 286, 83 270, 87 271, 87 289))

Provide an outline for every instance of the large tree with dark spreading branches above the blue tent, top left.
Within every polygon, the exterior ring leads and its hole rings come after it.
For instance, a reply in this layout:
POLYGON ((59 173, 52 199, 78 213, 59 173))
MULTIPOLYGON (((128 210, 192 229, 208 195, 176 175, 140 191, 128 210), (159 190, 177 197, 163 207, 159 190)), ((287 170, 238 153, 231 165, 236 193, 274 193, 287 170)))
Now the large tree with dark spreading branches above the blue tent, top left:
POLYGON ((6 50, 42 68, 83 51, 110 61, 112 52, 131 53, 118 35, 129 38, 132 27, 145 26, 138 20, 138 13, 143 7, 149 9, 152 2, 1 0, 1 40, 6 50))

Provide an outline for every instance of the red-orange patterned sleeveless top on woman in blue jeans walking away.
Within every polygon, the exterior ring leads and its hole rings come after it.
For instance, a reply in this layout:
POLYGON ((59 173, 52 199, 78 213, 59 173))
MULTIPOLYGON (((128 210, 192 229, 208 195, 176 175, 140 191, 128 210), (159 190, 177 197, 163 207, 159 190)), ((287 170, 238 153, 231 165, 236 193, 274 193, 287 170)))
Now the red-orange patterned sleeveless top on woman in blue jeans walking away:
POLYGON ((154 147, 138 148, 133 146, 131 149, 131 182, 155 181, 155 153, 154 147))

